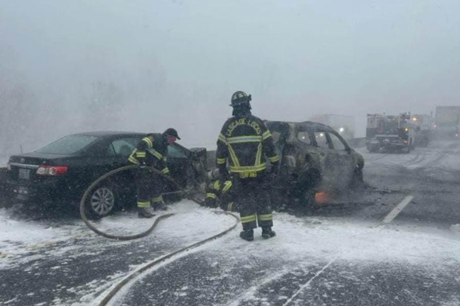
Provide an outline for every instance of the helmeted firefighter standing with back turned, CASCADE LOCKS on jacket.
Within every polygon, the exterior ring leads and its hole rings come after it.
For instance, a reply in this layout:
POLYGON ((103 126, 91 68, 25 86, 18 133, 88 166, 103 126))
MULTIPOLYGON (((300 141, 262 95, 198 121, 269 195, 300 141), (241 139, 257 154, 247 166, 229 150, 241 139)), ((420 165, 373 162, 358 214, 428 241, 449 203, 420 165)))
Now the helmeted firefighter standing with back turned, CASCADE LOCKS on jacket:
POLYGON ((251 96, 242 91, 232 95, 233 117, 228 119, 217 141, 217 166, 221 181, 227 180, 227 160, 234 179, 236 204, 243 231, 240 237, 254 240, 254 228, 262 227, 262 237, 271 238, 273 226, 267 190, 265 156, 278 169, 279 157, 264 122, 251 115, 251 96))

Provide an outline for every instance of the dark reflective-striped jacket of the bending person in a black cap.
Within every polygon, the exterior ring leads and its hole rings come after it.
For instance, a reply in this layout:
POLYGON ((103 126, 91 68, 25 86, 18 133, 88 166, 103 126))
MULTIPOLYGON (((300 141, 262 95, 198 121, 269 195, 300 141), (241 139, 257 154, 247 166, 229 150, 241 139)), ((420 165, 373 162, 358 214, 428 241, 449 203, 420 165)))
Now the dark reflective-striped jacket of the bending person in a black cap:
POLYGON ((162 134, 153 134, 153 141, 144 137, 132 151, 128 160, 135 165, 153 166, 155 169, 169 174, 166 165, 168 143, 162 134))

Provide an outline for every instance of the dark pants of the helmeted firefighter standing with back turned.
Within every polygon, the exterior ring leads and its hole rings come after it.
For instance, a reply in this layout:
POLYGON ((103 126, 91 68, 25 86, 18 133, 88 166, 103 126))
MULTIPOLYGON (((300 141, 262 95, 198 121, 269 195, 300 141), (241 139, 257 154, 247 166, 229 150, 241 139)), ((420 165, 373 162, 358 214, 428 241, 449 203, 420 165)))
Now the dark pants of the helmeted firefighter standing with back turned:
POLYGON ((257 225, 273 226, 267 179, 265 175, 235 179, 235 204, 240 212, 243 230, 256 228, 257 225))

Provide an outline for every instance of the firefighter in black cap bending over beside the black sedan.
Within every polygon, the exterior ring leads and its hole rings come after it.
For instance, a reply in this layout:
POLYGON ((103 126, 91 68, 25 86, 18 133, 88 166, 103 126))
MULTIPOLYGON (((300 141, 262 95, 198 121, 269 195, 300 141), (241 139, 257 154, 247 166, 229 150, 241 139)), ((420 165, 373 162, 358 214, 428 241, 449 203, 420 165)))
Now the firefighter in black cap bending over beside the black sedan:
POLYGON ((145 169, 145 166, 169 175, 167 166, 168 145, 180 139, 177 131, 168 129, 163 134, 150 133, 144 137, 129 156, 129 162, 140 165, 135 172, 137 187, 137 215, 139 218, 151 218, 151 206, 154 210, 166 209, 162 191, 164 181, 157 174, 145 169))

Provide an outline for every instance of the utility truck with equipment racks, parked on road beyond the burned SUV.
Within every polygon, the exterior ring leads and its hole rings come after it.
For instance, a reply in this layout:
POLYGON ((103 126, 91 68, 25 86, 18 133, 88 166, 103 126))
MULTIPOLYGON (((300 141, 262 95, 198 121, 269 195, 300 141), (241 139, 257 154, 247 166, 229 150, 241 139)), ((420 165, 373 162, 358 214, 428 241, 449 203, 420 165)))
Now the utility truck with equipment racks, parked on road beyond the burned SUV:
POLYGON ((366 148, 410 152, 416 143, 415 126, 410 113, 400 115, 367 114, 366 148))

